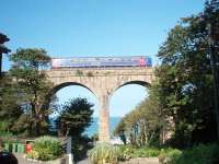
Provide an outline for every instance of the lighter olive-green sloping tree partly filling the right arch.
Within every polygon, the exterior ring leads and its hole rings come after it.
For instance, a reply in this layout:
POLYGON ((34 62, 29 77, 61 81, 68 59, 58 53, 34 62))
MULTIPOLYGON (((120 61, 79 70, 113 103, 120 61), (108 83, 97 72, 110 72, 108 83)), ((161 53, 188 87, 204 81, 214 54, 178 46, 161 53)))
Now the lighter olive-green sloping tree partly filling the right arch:
MULTIPOLYGON (((125 134, 134 145, 158 145, 162 143, 160 136, 165 128, 166 120, 161 115, 159 99, 154 86, 134 110, 127 114, 114 130, 114 134, 125 134)), ((162 138, 161 138, 162 139, 162 138)))

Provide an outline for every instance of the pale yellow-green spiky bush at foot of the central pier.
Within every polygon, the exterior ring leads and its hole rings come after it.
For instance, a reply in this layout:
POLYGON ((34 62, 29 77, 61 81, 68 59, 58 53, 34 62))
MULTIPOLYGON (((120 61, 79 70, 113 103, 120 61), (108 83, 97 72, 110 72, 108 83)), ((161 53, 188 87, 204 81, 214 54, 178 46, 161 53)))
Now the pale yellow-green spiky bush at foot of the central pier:
POLYGON ((120 157, 120 150, 110 143, 100 143, 89 151, 88 156, 93 164, 117 164, 120 157))

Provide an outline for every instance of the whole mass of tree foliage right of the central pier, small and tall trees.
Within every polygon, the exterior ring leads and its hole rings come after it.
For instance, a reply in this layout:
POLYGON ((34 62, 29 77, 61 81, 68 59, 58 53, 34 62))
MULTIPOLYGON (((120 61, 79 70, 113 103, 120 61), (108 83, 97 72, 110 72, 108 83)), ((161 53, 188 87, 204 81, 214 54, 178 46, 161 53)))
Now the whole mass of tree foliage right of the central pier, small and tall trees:
POLYGON ((216 87, 209 38, 219 74, 218 0, 207 1, 203 12, 181 19, 169 32, 158 52, 161 65, 155 70, 157 83, 150 96, 125 116, 116 133, 128 131, 130 141, 139 142, 138 137, 149 139, 151 130, 157 137, 162 131, 173 131, 170 142, 181 148, 216 140, 216 87))

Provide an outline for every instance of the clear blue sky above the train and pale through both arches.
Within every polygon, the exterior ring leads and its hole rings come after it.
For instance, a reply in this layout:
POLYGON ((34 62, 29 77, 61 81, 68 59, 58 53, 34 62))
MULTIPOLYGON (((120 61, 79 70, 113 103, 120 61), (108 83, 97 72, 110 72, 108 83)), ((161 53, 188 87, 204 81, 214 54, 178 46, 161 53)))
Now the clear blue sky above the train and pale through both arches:
MULTIPOLYGON (((0 32, 7 46, 45 48, 51 57, 138 56, 153 58, 180 17, 198 13, 205 0, 1 0, 0 32)), ((3 69, 10 63, 4 57, 3 69)), ((93 95, 81 87, 60 90, 60 102, 93 95), (70 96, 69 96, 70 95, 70 96)), ((147 92, 141 86, 119 89, 111 102, 113 116, 132 109, 147 92), (131 93, 131 95, 129 94, 131 93), (132 96, 132 97, 131 97, 132 96), (123 102, 126 103, 125 105, 123 102)))

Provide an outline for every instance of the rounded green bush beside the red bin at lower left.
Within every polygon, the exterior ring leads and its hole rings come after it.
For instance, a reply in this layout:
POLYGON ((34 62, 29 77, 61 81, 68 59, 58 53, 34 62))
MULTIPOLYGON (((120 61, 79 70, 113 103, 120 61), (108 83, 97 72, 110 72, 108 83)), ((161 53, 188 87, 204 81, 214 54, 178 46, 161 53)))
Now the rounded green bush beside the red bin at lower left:
POLYGON ((34 141, 33 151, 27 157, 49 161, 59 157, 62 154, 61 142, 54 137, 41 137, 34 141))

